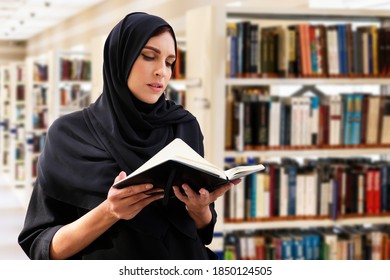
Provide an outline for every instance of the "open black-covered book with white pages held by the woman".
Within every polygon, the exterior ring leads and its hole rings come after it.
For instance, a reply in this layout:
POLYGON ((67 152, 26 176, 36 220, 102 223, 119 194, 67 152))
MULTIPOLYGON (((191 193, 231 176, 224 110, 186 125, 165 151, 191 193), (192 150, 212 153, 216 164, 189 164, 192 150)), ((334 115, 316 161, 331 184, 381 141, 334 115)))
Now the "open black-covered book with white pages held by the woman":
POLYGON ((209 192, 229 181, 264 169, 262 164, 236 166, 222 170, 208 162, 183 140, 176 138, 133 173, 114 184, 124 188, 131 185, 151 183, 165 190, 165 203, 172 186, 187 183, 196 192, 205 188, 209 192))

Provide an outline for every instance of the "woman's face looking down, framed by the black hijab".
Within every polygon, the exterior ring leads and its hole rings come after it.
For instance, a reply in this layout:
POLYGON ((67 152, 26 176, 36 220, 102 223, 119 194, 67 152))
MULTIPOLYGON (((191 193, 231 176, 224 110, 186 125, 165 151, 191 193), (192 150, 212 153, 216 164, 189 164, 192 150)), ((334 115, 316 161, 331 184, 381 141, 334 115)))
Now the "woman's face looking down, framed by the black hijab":
POLYGON ((151 37, 135 60, 127 86, 142 102, 156 103, 172 76, 175 42, 169 32, 151 37))

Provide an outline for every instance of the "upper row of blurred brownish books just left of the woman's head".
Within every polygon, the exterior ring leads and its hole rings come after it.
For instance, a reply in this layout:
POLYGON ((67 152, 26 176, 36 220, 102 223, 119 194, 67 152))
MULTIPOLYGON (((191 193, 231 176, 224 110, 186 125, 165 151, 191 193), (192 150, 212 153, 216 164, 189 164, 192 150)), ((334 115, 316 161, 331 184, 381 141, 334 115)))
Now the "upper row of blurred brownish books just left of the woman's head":
POLYGON ((85 59, 60 59, 61 81, 90 81, 91 61, 85 59))

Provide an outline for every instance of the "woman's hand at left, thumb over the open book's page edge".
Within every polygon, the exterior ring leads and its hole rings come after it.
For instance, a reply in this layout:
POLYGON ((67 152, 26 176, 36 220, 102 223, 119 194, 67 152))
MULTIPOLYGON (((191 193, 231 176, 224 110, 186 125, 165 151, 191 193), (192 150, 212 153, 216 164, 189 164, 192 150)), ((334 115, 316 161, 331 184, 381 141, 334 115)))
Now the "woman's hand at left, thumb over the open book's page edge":
MULTIPOLYGON (((120 172, 114 183, 125 177, 126 173, 120 172)), ((130 220, 145 206, 163 197, 163 189, 153 188, 151 184, 134 185, 121 189, 111 187, 107 196, 107 211, 118 220, 130 220)))

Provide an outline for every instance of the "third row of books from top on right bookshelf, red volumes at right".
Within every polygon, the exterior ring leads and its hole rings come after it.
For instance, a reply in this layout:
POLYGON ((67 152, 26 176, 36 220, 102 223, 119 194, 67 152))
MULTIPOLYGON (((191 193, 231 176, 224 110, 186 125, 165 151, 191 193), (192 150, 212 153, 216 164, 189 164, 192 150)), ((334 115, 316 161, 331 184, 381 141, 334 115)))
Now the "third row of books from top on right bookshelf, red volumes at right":
MULTIPOLYGON (((227 159, 227 167, 235 165, 227 159)), ((249 159, 254 161, 255 159, 249 159)), ((342 219, 390 213, 390 162, 283 158, 224 196, 226 222, 342 219)))

